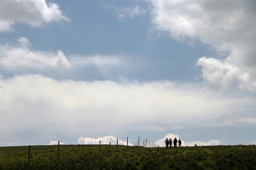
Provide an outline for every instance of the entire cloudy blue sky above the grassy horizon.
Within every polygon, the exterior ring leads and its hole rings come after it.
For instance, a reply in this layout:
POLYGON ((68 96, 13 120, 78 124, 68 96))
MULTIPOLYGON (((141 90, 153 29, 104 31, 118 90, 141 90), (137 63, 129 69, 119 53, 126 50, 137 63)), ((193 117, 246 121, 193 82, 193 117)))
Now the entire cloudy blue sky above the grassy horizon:
POLYGON ((256 1, 0 4, 0 146, 256 144, 256 1))

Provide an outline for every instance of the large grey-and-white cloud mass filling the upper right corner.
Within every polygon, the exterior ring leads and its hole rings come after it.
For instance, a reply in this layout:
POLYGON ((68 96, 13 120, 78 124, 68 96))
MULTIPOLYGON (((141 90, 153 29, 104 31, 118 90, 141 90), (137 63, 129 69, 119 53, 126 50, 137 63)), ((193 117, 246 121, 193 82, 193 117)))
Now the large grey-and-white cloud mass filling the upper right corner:
MULTIPOLYGON (((256 17, 254 1, 152 0, 152 23, 157 31, 193 44, 199 38, 218 58, 201 57, 203 78, 215 89, 256 89, 256 17)), ((200 56, 199 56, 200 57, 200 56)))

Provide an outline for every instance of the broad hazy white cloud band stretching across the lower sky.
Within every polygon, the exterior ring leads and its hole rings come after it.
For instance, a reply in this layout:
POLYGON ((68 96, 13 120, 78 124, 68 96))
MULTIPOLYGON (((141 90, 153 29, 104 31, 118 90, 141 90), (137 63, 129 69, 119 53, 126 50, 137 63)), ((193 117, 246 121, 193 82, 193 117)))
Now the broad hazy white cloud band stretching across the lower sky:
POLYGON ((92 134, 111 134, 139 124, 161 130, 167 124, 210 122, 220 115, 254 107, 248 96, 230 99, 210 89, 169 81, 122 84, 26 75, 0 78, 0 86, 0 130, 6 133, 52 123, 50 131, 62 129, 78 134, 84 129, 92 134))

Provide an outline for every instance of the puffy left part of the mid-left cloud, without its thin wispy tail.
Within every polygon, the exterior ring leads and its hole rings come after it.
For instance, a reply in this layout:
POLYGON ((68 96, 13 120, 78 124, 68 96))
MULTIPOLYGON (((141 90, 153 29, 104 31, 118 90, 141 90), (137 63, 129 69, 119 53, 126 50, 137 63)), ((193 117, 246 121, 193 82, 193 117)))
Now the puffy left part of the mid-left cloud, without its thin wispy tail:
POLYGON ((62 51, 44 52, 30 50, 29 40, 20 37, 16 46, 0 45, 0 65, 5 70, 43 70, 70 68, 71 64, 62 51))

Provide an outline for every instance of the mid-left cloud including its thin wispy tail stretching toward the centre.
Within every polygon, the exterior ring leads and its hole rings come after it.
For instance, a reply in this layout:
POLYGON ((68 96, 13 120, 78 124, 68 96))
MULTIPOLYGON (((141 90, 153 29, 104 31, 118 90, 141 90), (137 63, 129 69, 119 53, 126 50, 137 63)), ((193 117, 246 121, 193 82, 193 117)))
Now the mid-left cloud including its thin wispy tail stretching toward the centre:
MULTIPOLYGON (((55 74, 60 76, 65 74, 68 77, 78 73, 81 69, 86 70, 88 68, 87 71, 93 72, 92 70, 95 70, 101 76, 112 77, 113 73, 116 73, 116 75, 125 74, 126 71, 129 72, 141 67, 140 62, 131 62, 132 56, 66 56, 61 50, 34 50, 26 37, 20 37, 17 42, 0 44, 0 70, 8 71, 12 74, 36 73, 43 75, 52 75, 52 71, 56 71, 55 74)), ((139 59, 134 59, 133 61, 135 60, 139 61, 139 59)), ((84 72, 88 74, 86 71, 84 72)))

